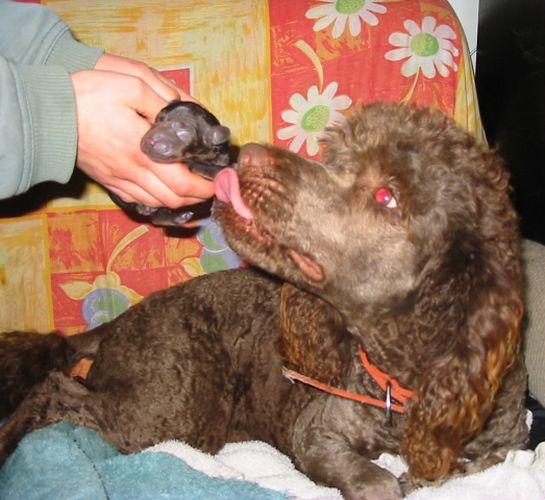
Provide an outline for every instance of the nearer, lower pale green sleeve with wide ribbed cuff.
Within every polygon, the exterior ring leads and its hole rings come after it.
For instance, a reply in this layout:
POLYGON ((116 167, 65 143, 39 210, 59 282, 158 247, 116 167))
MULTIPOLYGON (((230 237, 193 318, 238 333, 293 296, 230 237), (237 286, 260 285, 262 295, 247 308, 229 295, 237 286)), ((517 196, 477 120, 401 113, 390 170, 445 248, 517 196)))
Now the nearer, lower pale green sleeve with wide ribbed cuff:
POLYGON ((0 57, 0 130, 0 198, 47 180, 67 182, 77 144, 68 72, 0 57))

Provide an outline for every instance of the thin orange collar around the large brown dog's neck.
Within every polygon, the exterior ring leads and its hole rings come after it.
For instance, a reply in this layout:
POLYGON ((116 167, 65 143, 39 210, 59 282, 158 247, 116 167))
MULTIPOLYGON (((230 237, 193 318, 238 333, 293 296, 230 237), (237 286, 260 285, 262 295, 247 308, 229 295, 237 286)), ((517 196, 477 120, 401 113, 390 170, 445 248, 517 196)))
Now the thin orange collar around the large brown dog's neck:
POLYGON ((369 375, 373 377, 373 380, 378 384, 378 386, 385 391, 384 400, 371 398, 369 396, 362 396, 361 394, 355 392, 345 391, 344 389, 337 389, 330 385, 319 382, 316 379, 301 375, 300 373, 290 370, 289 368, 282 367, 282 374, 284 377, 289 379, 291 382, 299 381, 303 384, 310 385, 321 391, 328 392, 329 394, 334 394, 335 396, 340 396, 342 398, 351 399, 353 401, 358 401, 359 403, 369 404, 376 406, 378 408, 384 408, 388 419, 390 418, 391 411, 397 411, 398 413, 404 413, 405 408, 403 405, 406 403, 407 399, 411 398, 414 393, 409 389, 404 389, 399 385, 399 383, 390 377, 388 374, 379 370, 376 366, 372 365, 367 357, 367 354, 363 349, 359 348, 360 361, 363 367, 367 370, 369 375), (392 398, 398 401, 401 404, 392 403, 392 398))

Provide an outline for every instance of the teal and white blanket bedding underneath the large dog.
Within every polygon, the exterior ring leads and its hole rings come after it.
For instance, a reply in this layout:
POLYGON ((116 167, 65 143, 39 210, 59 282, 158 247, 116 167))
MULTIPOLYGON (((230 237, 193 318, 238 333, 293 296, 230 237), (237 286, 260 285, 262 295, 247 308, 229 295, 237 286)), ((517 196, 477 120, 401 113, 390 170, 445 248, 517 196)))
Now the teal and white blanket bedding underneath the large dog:
MULTIPOLYGON (((379 465, 399 476, 406 466, 383 455, 379 465)), ((9 499, 305 499, 338 500, 272 446, 227 444, 209 455, 178 441, 122 455, 93 431, 62 423, 25 437, 0 471, 9 499)), ((421 488, 408 500, 545 500, 545 443, 511 452, 483 472, 421 488)))

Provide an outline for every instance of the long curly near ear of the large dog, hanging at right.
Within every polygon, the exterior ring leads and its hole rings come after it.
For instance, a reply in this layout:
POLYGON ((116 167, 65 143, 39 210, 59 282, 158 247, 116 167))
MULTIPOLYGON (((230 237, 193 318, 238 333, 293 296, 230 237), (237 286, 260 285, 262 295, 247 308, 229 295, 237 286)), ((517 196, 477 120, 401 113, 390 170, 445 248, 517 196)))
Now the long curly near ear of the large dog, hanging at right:
POLYGON ((418 314, 433 318, 437 345, 423 356, 407 414, 403 449, 413 476, 433 480, 456 468, 517 358, 522 271, 516 231, 503 230, 503 240, 453 237, 426 273, 418 314))

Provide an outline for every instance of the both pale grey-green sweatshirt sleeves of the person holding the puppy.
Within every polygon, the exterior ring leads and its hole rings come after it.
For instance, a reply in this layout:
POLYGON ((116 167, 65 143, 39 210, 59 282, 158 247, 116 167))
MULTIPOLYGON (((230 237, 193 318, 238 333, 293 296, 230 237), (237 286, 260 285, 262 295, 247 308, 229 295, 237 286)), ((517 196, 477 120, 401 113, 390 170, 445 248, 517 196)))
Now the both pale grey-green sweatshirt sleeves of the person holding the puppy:
POLYGON ((68 181, 77 149, 70 73, 102 53, 49 9, 0 0, 0 198, 68 181))

